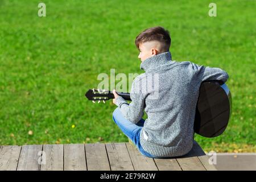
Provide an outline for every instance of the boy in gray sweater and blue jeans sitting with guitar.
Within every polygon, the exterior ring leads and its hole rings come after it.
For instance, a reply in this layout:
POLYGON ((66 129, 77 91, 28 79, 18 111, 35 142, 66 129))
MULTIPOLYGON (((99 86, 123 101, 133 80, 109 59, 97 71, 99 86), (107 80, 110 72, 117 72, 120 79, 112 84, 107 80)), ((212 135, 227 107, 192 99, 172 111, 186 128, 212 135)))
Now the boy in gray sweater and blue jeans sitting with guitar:
POLYGON ((144 30, 135 40, 139 49, 141 69, 131 86, 128 104, 113 90, 113 120, 137 146, 141 154, 150 158, 182 156, 193 146, 193 123, 201 82, 226 82, 228 73, 220 68, 197 65, 190 61, 171 59, 171 38, 163 27, 144 30), (152 74, 153 90, 147 88, 152 74), (150 96, 157 97, 150 97, 150 96), (147 113, 144 121, 143 110, 147 113))

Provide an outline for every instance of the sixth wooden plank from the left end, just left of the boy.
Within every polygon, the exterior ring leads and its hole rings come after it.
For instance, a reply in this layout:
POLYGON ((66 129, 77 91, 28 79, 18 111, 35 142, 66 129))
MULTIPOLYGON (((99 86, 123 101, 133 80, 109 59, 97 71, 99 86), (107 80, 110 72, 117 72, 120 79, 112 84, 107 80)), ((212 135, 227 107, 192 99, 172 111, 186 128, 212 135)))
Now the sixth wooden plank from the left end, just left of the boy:
POLYGON ((106 143, 112 171, 134 171, 125 143, 106 143))

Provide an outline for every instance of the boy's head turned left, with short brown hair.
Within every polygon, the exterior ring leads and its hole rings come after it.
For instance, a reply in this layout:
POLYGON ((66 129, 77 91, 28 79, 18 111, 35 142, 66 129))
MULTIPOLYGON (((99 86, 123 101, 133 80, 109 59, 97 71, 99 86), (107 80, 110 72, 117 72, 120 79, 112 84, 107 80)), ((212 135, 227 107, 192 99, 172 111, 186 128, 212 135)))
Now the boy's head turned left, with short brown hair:
POLYGON ((163 27, 147 28, 136 37, 135 44, 139 49, 139 59, 144 61, 148 57, 169 51, 170 33, 163 27))

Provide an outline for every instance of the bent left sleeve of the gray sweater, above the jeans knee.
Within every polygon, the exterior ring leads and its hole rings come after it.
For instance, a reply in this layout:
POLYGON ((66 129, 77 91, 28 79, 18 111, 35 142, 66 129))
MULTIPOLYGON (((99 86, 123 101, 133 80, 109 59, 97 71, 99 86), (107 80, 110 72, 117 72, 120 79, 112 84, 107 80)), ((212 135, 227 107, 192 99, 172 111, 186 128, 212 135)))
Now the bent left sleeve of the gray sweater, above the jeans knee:
POLYGON ((141 90, 135 88, 137 84, 135 84, 136 79, 133 81, 131 86, 131 102, 128 104, 124 98, 121 96, 117 97, 115 105, 119 107, 121 110, 123 117, 128 119, 132 123, 137 123, 143 117, 143 109, 144 109, 144 102, 145 96, 141 93, 141 90), (135 92, 136 90, 136 92, 135 92))

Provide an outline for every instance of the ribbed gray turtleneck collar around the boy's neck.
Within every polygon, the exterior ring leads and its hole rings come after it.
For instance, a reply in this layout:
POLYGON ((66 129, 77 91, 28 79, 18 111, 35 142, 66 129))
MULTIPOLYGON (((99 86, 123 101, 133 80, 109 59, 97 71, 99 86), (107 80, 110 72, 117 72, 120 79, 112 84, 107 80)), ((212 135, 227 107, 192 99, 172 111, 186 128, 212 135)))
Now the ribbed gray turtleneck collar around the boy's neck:
POLYGON ((170 63, 172 60, 171 52, 163 52, 159 53, 158 55, 154 55, 151 57, 148 57, 141 63, 141 69, 143 69, 145 72, 154 69, 157 67, 160 67, 161 65, 170 63))

